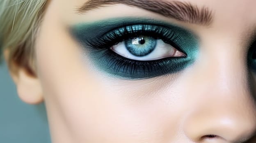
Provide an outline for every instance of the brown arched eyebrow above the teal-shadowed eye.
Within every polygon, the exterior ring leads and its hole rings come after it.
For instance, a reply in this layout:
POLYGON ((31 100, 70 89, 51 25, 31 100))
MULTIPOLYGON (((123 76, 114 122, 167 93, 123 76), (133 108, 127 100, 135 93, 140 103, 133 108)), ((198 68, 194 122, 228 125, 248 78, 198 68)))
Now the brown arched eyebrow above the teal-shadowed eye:
POLYGON ((213 13, 208 7, 201 7, 199 9, 197 5, 177 0, 88 0, 76 11, 78 13, 85 13, 113 4, 139 7, 168 18, 197 25, 208 26, 213 22, 213 13))

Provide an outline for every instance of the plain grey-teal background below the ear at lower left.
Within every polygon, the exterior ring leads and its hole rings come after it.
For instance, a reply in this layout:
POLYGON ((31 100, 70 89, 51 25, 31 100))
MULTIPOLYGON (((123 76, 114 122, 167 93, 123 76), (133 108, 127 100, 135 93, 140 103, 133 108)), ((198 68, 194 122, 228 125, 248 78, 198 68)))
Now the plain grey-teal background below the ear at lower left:
POLYGON ((50 143, 44 105, 18 98, 5 63, 0 63, 0 143, 50 143))

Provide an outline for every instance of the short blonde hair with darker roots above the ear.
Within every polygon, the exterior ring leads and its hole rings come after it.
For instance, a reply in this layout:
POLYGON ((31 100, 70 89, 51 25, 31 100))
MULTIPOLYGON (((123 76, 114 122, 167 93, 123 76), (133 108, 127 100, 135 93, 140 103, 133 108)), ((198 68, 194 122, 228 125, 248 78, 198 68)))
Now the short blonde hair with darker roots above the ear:
POLYGON ((0 0, 0 50, 8 49, 10 68, 13 63, 31 69, 45 3, 46 0, 0 0))

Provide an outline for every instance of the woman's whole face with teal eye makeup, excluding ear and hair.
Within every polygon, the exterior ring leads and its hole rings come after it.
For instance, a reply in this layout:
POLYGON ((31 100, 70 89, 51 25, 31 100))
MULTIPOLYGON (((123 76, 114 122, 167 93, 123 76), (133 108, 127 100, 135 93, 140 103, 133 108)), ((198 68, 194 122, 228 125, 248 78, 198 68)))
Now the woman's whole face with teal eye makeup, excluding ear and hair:
POLYGON ((49 1, 35 61, 53 143, 249 139, 256 131, 255 5, 49 1))

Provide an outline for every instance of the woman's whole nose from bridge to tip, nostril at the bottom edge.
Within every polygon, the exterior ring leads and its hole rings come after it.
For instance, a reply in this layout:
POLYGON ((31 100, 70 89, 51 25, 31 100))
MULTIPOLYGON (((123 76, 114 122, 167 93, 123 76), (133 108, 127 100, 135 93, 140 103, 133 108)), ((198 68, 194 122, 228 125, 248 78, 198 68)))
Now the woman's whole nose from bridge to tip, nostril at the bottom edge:
POLYGON ((193 142, 242 143, 256 131, 246 64, 227 60, 233 58, 209 58, 194 71, 196 83, 186 86, 196 93, 183 121, 185 135, 193 142))

